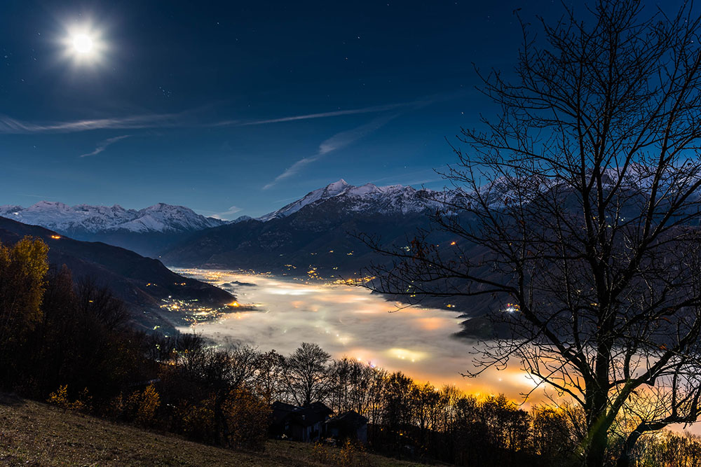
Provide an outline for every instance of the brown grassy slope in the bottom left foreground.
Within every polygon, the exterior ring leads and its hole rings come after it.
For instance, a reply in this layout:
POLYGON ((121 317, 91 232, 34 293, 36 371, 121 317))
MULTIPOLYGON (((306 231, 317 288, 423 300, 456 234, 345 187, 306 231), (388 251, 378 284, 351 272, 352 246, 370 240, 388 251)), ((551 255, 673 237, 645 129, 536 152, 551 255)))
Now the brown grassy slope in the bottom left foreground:
MULTIPOLYGON (((416 466, 369 455, 370 465, 416 466)), ((0 465, 320 466, 312 446, 270 441, 263 453, 236 452, 144 431, 0 394, 0 465)))

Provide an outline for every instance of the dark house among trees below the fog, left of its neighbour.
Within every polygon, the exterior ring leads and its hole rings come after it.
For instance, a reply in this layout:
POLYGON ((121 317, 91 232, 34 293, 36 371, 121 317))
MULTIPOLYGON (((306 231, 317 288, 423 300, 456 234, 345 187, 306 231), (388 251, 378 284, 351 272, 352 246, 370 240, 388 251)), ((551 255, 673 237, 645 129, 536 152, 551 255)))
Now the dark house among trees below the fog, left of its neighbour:
POLYGON ((294 441, 317 441, 325 436, 325 421, 333 411, 320 402, 304 407, 275 402, 271 414, 271 435, 294 441))

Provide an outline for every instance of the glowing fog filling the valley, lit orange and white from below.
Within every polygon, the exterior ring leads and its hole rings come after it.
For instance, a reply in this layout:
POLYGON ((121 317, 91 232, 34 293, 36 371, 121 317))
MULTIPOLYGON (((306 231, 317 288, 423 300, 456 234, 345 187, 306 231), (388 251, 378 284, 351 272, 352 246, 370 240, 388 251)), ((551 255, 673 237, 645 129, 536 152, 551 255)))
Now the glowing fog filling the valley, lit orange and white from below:
POLYGON ((221 270, 173 270, 231 291, 242 305, 254 305, 254 311, 180 328, 184 332, 194 330, 222 344, 233 340, 283 355, 301 342, 315 342, 334 358, 357 358, 421 382, 455 384, 477 395, 505 393, 519 400, 520 393, 533 388, 531 379, 515 366, 477 378, 461 376, 471 368, 475 342, 453 337, 461 329, 459 312, 400 309, 399 303, 346 285, 221 270))

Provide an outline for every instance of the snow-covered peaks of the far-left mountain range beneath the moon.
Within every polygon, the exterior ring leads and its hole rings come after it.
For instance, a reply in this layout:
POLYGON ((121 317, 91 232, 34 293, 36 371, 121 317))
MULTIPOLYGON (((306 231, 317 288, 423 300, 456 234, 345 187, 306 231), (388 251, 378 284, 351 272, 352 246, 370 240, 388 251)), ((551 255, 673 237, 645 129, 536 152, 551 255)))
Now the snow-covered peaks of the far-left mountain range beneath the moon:
POLYGON ((41 225, 67 235, 98 232, 191 232, 224 224, 219 219, 201 216, 183 206, 158 203, 144 209, 114 206, 68 206, 61 202, 41 201, 30 207, 0 206, 0 216, 29 225, 41 225))

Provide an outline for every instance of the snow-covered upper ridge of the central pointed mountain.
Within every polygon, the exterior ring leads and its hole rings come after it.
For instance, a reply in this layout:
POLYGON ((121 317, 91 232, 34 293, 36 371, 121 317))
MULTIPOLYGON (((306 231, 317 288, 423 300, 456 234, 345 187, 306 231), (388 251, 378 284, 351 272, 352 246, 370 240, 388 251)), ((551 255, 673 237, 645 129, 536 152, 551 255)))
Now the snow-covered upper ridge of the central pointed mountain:
POLYGON ((326 202, 333 202, 339 209, 347 212, 409 214, 435 209, 440 205, 437 199, 444 196, 453 197, 455 193, 434 190, 416 190, 411 186, 392 185, 375 186, 366 183, 353 186, 341 179, 307 193, 300 200, 287 204, 277 211, 259 217, 258 221, 271 221, 275 218, 290 216, 304 207, 317 207, 326 202))

